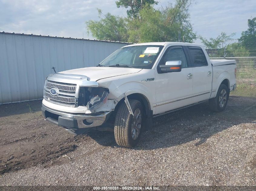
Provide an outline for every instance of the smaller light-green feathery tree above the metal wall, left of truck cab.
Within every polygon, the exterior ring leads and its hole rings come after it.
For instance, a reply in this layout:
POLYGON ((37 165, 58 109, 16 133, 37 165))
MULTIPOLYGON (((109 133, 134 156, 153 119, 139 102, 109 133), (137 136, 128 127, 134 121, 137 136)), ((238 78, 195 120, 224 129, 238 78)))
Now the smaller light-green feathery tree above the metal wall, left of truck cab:
POLYGON ((101 20, 87 21, 86 25, 88 33, 91 32, 92 36, 99 40, 127 42, 127 21, 125 21, 125 18, 111 15, 110 13, 103 14, 100 9, 97 10, 101 20))

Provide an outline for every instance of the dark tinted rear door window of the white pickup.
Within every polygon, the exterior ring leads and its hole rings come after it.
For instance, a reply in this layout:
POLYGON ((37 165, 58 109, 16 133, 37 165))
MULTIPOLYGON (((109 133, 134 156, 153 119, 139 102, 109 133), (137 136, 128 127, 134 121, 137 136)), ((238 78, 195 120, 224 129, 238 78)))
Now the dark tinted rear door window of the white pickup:
POLYGON ((194 66, 207 66, 207 60, 205 58, 204 52, 201 48, 188 47, 188 51, 191 56, 191 61, 194 66))

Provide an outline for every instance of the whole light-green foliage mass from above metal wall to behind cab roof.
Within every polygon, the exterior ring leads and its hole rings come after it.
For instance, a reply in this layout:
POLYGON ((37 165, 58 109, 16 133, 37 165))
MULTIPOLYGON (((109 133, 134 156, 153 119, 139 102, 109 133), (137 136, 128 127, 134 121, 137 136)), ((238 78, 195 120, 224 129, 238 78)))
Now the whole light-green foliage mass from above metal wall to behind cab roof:
POLYGON ((88 21, 87 29, 92 36, 100 40, 128 41, 133 43, 178 41, 180 32, 184 42, 192 43, 196 39, 189 21, 189 0, 176 0, 163 10, 156 10, 151 4, 145 4, 135 18, 120 18, 110 13, 102 14, 100 21, 88 21))

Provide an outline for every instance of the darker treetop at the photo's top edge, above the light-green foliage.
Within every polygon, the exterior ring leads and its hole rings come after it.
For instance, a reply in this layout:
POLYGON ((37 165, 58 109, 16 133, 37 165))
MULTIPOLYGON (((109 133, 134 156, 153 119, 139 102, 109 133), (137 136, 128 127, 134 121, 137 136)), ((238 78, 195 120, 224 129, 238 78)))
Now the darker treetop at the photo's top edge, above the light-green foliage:
POLYGON ((154 0, 119 0, 116 1, 118 8, 124 7, 129 9, 126 11, 128 18, 139 18, 139 11, 145 7, 145 5, 157 5, 158 2, 154 0))

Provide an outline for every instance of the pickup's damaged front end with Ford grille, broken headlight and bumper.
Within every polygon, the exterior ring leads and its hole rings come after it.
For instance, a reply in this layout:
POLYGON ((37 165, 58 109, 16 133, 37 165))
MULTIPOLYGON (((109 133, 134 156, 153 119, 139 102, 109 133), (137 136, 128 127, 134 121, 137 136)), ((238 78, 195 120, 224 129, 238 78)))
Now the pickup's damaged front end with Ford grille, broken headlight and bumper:
POLYGON ((71 133, 100 126, 115 109, 108 88, 98 87, 84 75, 53 74, 45 81, 42 113, 45 118, 71 133))

